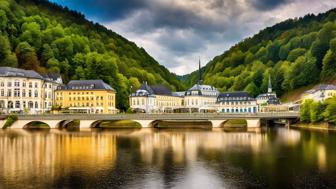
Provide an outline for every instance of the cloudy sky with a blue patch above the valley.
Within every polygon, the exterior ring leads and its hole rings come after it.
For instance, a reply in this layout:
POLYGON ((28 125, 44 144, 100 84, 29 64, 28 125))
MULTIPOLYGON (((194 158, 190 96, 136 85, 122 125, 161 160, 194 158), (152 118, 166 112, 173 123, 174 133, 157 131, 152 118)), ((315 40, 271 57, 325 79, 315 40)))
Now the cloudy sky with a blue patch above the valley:
POLYGON ((273 24, 336 7, 336 0, 51 0, 82 12, 177 74, 197 69, 273 24))

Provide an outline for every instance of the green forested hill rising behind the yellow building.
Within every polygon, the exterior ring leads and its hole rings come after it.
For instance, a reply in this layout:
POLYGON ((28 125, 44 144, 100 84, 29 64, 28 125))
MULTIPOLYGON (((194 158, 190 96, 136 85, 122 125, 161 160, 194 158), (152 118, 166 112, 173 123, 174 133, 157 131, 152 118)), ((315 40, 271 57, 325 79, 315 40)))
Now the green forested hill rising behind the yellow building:
POLYGON ((68 8, 46 0, 0 0, 0 66, 103 79, 118 92, 118 108, 142 81, 183 86, 143 48, 68 8))

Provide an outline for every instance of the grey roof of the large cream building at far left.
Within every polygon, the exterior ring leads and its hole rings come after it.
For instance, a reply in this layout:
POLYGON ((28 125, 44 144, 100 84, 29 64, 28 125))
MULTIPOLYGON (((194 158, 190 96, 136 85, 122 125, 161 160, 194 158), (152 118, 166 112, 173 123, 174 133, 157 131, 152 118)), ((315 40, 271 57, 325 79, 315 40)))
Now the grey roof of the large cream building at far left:
POLYGON ((32 79, 44 79, 40 74, 33 70, 23 70, 19 68, 0 67, 1 77, 25 77, 32 79))

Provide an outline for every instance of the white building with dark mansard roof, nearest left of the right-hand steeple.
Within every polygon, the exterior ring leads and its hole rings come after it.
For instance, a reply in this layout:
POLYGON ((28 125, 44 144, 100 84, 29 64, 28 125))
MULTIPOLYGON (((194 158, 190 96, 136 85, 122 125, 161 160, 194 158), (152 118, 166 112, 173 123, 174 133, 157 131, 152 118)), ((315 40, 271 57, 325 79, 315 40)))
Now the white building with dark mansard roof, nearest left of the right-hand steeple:
POLYGON ((226 92, 218 96, 217 109, 220 113, 257 113, 258 105, 247 92, 226 92))

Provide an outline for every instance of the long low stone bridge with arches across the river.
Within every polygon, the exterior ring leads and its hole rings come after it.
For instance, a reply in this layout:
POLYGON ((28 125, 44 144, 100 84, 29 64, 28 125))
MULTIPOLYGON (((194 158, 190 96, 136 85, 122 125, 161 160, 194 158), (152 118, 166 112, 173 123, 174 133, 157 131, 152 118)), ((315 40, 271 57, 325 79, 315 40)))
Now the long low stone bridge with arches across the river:
MULTIPOLYGON (((156 121, 209 121, 213 127, 221 127, 228 120, 246 120, 247 127, 260 127, 262 120, 297 120, 298 112, 286 113, 256 113, 256 114, 55 114, 55 115, 19 115, 11 128, 24 128, 32 122, 43 122, 50 128, 60 128, 73 120, 80 121, 80 128, 93 128, 101 121, 130 120, 139 123, 142 127, 152 127, 156 121)), ((5 123, 0 120, 0 128, 5 123)))

